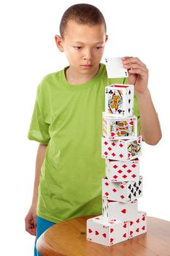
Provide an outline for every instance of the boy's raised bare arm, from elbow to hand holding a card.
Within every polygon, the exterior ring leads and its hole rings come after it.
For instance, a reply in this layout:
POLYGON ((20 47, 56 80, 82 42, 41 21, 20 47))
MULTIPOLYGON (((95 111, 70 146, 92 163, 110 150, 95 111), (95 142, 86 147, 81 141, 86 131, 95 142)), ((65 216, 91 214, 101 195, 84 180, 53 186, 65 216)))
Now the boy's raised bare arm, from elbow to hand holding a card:
POLYGON ((144 142, 155 145, 161 140, 161 126, 155 111, 150 91, 147 88, 148 69, 138 58, 123 57, 123 67, 128 69, 128 83, 134 84, 140 111, 140 124, 144 142))

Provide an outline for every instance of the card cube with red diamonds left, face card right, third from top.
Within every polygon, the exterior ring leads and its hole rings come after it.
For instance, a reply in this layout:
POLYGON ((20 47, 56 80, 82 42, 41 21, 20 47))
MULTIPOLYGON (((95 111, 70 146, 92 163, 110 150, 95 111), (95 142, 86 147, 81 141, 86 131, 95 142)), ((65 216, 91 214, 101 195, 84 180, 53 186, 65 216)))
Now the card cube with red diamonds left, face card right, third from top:
POLYGON ((109 140, 101 138, 101 157, 128 161, 142 154, 142 135, 131 140, 109 140))

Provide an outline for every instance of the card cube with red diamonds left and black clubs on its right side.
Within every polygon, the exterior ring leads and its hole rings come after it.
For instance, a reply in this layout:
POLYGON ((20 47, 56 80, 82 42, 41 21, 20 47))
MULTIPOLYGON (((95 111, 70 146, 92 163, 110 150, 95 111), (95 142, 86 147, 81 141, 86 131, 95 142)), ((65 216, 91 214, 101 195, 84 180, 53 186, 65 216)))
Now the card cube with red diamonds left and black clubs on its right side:
POLYGON ((102 178, 102 198, 117 202, 131 202, 143 193, 143 178, 138 181, 109 182, 108 178, 102 178))

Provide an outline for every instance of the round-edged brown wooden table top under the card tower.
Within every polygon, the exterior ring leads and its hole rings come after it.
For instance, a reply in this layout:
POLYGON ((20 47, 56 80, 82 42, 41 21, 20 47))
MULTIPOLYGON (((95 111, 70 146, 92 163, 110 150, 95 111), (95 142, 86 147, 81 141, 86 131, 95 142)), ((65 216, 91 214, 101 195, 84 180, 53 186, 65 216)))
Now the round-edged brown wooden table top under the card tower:
POLYGON ((147 233, 104 246, 86 240, 86 220, 79 217, 50 227, 36 247, 42 256, 170 256, 170 222, 147 217, 147 233))

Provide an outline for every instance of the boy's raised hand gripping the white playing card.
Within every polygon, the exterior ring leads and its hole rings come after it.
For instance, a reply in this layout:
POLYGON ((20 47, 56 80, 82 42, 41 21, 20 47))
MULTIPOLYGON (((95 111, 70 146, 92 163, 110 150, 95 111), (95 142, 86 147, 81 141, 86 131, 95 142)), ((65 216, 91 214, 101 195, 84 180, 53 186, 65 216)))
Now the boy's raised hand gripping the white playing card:
POLYGON ((148 83, 148 69, 142 61, 134 57, 123 57, 123 67, 128 69, 128 83, 134 85, 136 94, 146 92, 148 83))

